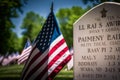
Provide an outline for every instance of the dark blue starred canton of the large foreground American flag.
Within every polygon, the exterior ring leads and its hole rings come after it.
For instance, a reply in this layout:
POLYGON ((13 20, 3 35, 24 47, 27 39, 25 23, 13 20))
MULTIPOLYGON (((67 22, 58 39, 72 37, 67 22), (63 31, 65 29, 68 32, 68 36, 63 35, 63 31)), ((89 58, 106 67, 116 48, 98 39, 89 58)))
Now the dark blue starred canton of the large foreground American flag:
POLYGON ((42 28, 42 31, 39 33, 36 38, 37 48, 43 53, 46 49, 49 48, 53 40, 55 40, 60 35, 60 30, 57 25, 54 13, 51 12, 42 28))

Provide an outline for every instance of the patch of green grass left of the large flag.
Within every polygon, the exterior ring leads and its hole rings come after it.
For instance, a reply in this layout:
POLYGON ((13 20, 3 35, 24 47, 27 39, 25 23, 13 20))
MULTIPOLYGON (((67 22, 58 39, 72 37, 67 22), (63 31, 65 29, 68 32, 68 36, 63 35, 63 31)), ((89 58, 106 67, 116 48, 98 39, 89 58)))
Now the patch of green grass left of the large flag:
POLYGON ((20 80, 23 65, 0 66, 0 80, 20 80))

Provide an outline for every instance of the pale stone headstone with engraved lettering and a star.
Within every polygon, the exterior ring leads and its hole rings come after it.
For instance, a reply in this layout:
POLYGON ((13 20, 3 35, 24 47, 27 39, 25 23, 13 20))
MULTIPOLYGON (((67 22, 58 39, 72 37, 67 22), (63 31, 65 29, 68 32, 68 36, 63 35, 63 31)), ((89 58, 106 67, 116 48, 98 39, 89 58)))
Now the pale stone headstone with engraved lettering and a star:
POLYGON ((74 80, 120 80, 120 4, 102 3, 74 23, 74 80))

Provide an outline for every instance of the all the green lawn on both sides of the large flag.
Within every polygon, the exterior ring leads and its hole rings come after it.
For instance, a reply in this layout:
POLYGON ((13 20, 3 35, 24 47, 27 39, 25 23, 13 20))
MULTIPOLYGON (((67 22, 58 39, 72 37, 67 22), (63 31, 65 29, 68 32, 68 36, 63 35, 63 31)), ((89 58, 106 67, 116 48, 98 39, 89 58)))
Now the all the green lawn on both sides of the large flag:
MULTIPOLYGON (((23 65, 0 66, 0 80, 20 80, 23 65)), ((62 69, 54 80, 73 80, 73 71, 62 69)))

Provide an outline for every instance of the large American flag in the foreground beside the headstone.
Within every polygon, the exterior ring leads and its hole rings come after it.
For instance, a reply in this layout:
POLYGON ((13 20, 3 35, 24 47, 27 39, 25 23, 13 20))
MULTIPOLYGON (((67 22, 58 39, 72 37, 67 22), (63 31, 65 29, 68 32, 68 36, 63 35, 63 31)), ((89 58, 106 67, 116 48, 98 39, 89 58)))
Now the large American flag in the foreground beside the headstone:
POLYGON ((71 59, 53 11, 38 34, 21 80, 53 80, 71 59))

